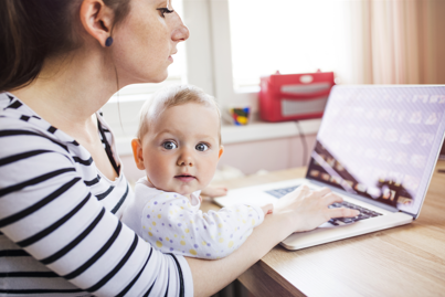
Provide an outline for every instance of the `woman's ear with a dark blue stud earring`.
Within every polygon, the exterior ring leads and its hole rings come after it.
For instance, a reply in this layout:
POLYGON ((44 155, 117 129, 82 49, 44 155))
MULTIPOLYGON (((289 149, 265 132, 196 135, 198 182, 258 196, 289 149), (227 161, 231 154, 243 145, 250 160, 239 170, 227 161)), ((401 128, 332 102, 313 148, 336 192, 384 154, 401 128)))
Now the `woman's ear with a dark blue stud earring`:
POLYGON ((105 6, 102 0, 84 0, 81 6, 81 22, 85 31, 88 32, 102 46, 110 36, 114 21, 114 11, 105 6))

